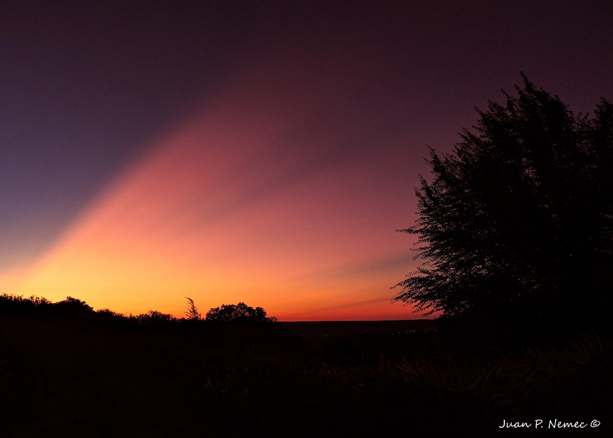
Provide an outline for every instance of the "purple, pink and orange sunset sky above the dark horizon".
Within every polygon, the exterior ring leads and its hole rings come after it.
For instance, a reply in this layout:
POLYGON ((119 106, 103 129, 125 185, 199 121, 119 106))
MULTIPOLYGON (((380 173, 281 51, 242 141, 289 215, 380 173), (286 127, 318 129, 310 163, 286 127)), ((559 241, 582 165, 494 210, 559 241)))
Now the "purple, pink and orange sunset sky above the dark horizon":
POLYGON ((610 2, 9 1, 0 293, 177 317, 420 318, 427 145, 520 72, 613 99, 610 2), (557 5, 557 6, 554 6, 557 5))

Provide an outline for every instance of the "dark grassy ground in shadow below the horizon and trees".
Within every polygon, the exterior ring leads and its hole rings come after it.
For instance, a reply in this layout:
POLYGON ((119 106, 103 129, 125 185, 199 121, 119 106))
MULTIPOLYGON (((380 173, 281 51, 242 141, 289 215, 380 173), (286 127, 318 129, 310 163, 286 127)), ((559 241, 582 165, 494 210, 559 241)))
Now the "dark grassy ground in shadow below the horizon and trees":
POLYGON ((509 351, 442 336, 431 321, 240 325, 15 309, 0 307, 2 436, 611 432, 612 348, 597 334, 509 351), (500 429, 503 419, 531 426, 500 429), (556 419, 587 427, 547 429, 556 419))

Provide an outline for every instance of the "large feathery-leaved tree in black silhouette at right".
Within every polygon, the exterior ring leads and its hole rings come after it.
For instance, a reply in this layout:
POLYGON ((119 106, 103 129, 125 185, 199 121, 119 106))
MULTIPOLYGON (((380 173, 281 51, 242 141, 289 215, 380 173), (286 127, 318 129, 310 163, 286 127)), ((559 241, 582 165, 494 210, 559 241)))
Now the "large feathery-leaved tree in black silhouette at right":
POLYGON ((445 317, 587 320, 613 280, 613 105, 573 115, 524 78, 454 151, 430 148, 416 234, 423 263, 394 301, 445 317))

